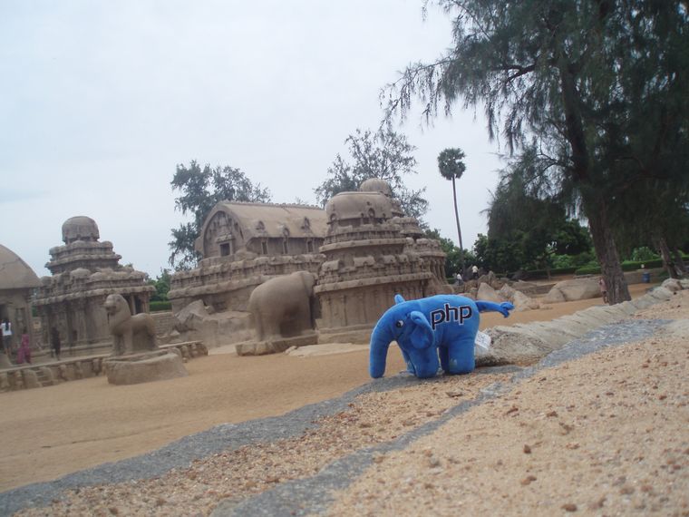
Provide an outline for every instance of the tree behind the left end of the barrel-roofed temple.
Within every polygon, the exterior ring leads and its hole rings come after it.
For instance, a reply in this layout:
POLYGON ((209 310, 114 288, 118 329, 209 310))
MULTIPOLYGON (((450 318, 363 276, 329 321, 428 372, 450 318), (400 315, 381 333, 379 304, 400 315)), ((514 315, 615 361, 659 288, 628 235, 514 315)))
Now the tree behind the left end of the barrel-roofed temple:
POLYGON ((178 165, 170 185, 173 191, 181 192, 175 198, 175 210, 184 215, 190 213, 194 218, 170 230, 170 266, 175 270, 196 266, 200 256, 194 249, 194 241, 200 235, 204 219, 219 201, 270 201, 269 190, 262 189, 260 183, 255 185, 244 172, 227 165, 215 169, 208 163, 201 169, 197 161, 191 161, 189 167, 178 165))

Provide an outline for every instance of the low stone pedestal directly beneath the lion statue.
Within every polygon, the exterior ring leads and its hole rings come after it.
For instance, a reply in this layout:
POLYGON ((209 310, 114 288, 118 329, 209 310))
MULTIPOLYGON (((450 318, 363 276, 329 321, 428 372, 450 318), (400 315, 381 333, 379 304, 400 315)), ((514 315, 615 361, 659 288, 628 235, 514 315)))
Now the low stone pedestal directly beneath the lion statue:
POLYGON ((103 367, 112 385, 136 385, 189 375, 181 354, 168 350, 111 357, 103 361, 103 367))

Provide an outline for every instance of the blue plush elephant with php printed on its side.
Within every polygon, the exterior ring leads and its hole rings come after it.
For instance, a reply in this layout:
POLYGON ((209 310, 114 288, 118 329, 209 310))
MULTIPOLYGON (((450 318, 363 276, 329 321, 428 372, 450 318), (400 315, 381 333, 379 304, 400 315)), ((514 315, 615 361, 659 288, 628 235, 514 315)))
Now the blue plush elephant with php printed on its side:
POLYGON ((498 311, 508 317, 514 308, 509 302, 474 301, 456 295, 410 301, 395 295, 394 301, 371 334, 369 373, 374 378, 385 373, 388 346, 393 340, 400 346, 409 371, 419 378, 435 376, 439 366, 447 374, 468 374, 475 366, 479 313, 498 311))

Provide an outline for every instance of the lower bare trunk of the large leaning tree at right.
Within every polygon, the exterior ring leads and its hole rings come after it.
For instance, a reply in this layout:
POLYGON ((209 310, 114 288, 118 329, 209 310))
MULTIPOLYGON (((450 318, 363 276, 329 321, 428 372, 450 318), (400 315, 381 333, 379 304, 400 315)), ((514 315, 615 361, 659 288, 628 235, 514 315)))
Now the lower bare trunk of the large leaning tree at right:
MULTIPOLYGON (((591 205, 589 205, 591 206, 591 205)), ((588 227, 591 229, 596 257, 600 263, 603 278, 607 286, 607 303, 615 305, 632 299, 626 286, 625 275, 615 245, 610 225, 607 222, 606 204, 598 200, 592 210, 588 210, 588 227)))

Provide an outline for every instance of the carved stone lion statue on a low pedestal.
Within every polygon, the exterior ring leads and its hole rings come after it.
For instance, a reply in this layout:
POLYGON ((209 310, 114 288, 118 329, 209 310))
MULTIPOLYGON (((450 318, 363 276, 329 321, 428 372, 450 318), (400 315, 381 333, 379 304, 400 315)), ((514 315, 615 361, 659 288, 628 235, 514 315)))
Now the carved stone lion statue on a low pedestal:
POLYGON ((108 327, 112 333, 114 356, 147 352, 158 348, 156 327, 150 314, 131 316, 129 304, 121 295, 108 295, 103 307, 108 313, 108 327))

